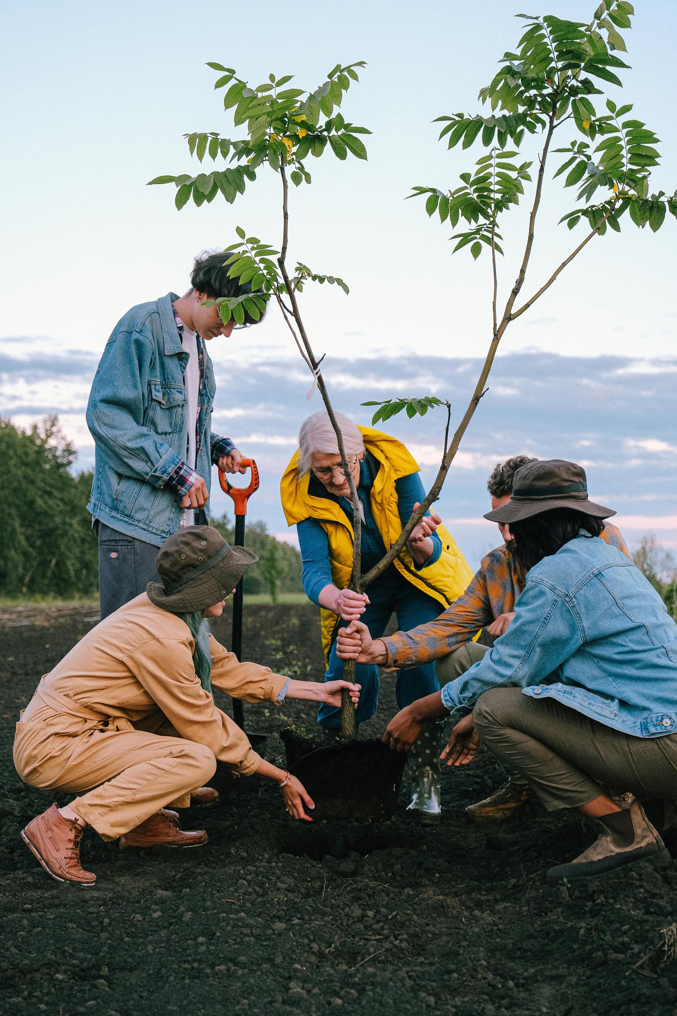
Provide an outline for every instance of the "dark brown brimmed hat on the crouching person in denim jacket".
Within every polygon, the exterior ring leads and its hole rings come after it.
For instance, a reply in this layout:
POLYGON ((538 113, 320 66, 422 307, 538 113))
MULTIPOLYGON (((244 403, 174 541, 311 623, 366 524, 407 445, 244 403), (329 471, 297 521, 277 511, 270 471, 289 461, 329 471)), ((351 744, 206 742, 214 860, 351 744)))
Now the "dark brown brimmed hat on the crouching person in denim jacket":
POLYGON ((518 469, 511 500, 501 508, 487 512, 484 518, 490 522, 519 522, 551 508, 572 508, 595 518, 616 514, 613 508, 588 500, 588 480, 582 465, 551 458, 527 462, 518 469))

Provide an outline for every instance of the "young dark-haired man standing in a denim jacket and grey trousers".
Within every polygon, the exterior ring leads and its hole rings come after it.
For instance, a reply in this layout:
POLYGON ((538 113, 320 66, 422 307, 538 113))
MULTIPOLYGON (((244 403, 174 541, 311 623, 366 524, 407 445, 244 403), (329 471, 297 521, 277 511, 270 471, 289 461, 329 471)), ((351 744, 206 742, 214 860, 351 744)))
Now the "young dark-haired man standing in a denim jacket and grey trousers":
MULTIPOLYGON (((101 619, 157 582, 158 548, 205 524, 212 464, 244 472, 229 438, 211 433, 215 384, 205 339, 230 335, 205 301, 251 292, 228 278, 227 254, 195 260, 192 289, 133 307, 116 325, 87 405, 96 444, 87 506, 98 533, 101 619)), ((245 325, 255 324, 246 312, 245 325)))

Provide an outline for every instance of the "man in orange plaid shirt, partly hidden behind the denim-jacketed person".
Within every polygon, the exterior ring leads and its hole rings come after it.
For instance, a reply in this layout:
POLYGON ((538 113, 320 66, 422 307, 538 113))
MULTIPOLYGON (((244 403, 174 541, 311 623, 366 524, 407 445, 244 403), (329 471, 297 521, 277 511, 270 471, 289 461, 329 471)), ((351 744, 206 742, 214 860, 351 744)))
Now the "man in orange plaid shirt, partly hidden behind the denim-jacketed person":
MULTIPOLYGON (((487 482, 492 511, 510 501, 516 471, 535 461, 527 455, 515 455, 494 467, 487 482)), ((505 526, 499 524, 498 528, 503 536, 505 526)), ((601 538, 630 557, 615 525, 605 522, 601 538)), ((389 668, 420 666, 434 659, 439 684, 454 681, 481 659, 493 640, 506 630, 515 617, 515 600, 523 585, 503 543, 482 558, 479 571, 463 595, 434 621, 374 640, 365 625, 353 621, 348 628, 339 630, 337 655, 341 659, 389 668), (480 633, 481 644, 473 641, 480 633)), ((494 793, 466 808, 471 821, 502 822, 526 804, 529 784, 517 772, 506 770, 506 774, 507 780, 494 793)))

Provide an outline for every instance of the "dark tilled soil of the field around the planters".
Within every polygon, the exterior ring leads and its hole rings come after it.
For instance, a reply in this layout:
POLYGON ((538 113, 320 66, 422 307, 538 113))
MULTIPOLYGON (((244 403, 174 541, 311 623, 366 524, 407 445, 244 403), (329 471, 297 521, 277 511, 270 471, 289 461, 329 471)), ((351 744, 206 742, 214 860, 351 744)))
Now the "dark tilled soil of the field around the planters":
MULTIPOLYGON (((677 963, 658 947, 677 920, 677 866, 547 887, 545 870, 592 836, 576 815, 548 817, 536 804, 503 826, 467 825, 465 806, 501 779, 488 753, 446 773, 434 826, 405 812, 406 771, 397 818, 370 826, 301 827, 256 777, 235 788, 222 780, 220 803, 184 819, 208 831, 201 850, 122 852, 88 830, 82 855, 96 887, 50 880, 18 833, 55 796, 19 781, 13 724, 93 613, 52 623, 41 610, 0 628, 3 1016, 675 1012, 677 963)), ((227 627, 226 618, 220 637, 227 627)), ((322 677, 312 607, 247 608, 245 647, 289 676, 322 677)), ((360 737, 378 736, 394 711, 385 678, 360 737)), ((312 729, 314 712, 245 706, 280 762, 279 729, 312 729)))

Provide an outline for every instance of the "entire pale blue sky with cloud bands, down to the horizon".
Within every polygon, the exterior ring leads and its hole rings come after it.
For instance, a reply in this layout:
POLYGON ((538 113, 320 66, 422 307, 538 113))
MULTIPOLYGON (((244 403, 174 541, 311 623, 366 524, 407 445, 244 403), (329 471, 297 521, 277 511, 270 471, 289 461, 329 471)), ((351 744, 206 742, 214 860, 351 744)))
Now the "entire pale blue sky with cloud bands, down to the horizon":
MULTIPOLYGON (((532 8, 589 20, 595 6, 595 0, 551 0, 532 8)), ((514 14, 520 9, 521 0, 349 0, 340 6, 301 0, 293 7, 272 0, 188 5, 5 0, 0 411, 21 425, 48 409, 60 411, 67 433, 82 448, 81 464, 87 465, 91 450, 82 412, 89 379, 121 315, 171 289, 183 292, 194 254, 231 243, 236 225, 278 242, 278 179, 267 168, 234 205, 217 198, 178 212, 174 188, 145 186, 158 174, 193 168, 184 132, 213 129, 238 136, 230 115, 223 113, 222 92, 213 90, 215 74, 205 66, 207 60, 234 66, 251 84, 270 71, 293 72, 294 83, 311 88, 339 60, 367 61, 342 112, 374 131, 365 138, 368 162, 349 157, 339 163, 331 153, 320 161, 309 157, 313 185, 291 201, 290 258, 335 272, 350 285, 347 298, 328 287, 303 295, 316 352, 327 354, 328 376, 335 377, 337 406, 365 423, 366 410, 358 408, 362 398, 378 397, 378 392, 387 397, 406 387, 409 378, 421 384, 424 378, 435 380, 431 361, 425 359, 421 374, 417 358, 483 355, 490 337, 488 259, 473 265, 467 254, 452 258, 448 226, 430 221, 422 202, 404 197, 413 184, 455 186, 459 173, 483 153, 448 152, 430 121, 444 113, 481 109, 477 91, 490 80, 503 51, 517 44, 523 22, 514 14), (46 369, 47 355, 58 363, 46 369), (381 376, 381 358, 398 356, 399 367, 391 361, 381 376), (350 376, 351 357, 360 358, 357 377, 350 376), (371 370, 368 358, 376 361, 371 370)), ((635 10, 635 27, 625 36, 627 62, 634 69, 622 73, 622 91, 611 86, 610 92, 619 102, 621 97, 634 102, 633 115, 662 138, 663 166, 655 171, 653 189, 672 192, 677 186, 677 117, 670 98, 677 5, 638 0, 635 10)), ((564 127, 560 143, 574 136, 564 127)), ((572 190, 562 192, 560 180, 550 180, 526 296, 583 238, 581 230, 569 234, 555 226, 573 199, 572 190)), ((619 510, 634 513, 635 520, 656 517, 662 523, 657 531, 668 542, 677 537, 672 508, 677 485, 671 479, 671 463, 677 460, 672 409, 677 223, 669 217, 657 236, 649 229, 637 231, 627 217, 624 223, 620 237, 594 241, 546 298, 509 330, 500 356, 511 358, 510 371, 521 365, 522 381, 495 383, 497 400, 487 398, 480 407, 477 430, 462 449, 469 457, 446 489, 446 516, 466 518, 480 511, 486 463, 494 455, 524 445, 537 455, 583 457, 584 451, 576 449, 590 447, 597 449, 585 452, 596 490, 609 489, 614 496, 624 491, 628 507, 619 502, 619 510), (540 389, 542 417, 533 400, 525 411, 517 394, 538 381, 541 363, 536 354, 531 367, 515 359, 524 348, 568 358, 627 359, 614 361, 613 369, 595 360, 588 373, 580 359, 576 370, 557 368, 557 361, 549 359, 548 381, 540 389), (543 421, 558 371, 562 377, 573 371, 578 380, 570 384, 585 397, 580 404, 572 399, 569 418, 558 410, 553 429, 543 421), (620 431, 618 400, 622 406, 629 396, 605 380, 617 371, 637 379, 632 412, 620 431), (615 430, 609 454, 602 454, 611 417, 615 430), (555 433, 561 438, 559 452, 555 433), (609 488, 615 466, 629 471, 609 488), (669 519, 674 525, 666 528, 669 519)), ((524 226, 524 216, 511 212, 504 235, 506 249, 515 254, 500 269, 503 293, 515 278, 524 226)), ((276 480, 294 430, 309 408, 319 407, 318 396, 306 403, 304 368, 274 309, 260 327, 212 342, 210 353, 219 378, 219 427, 251 439, 244 450, 266 461, 270 490, 260 497, 258 517, 281 531, 276 480), (241 412, 248 365, 256 369, 241 412), (282 377, 298 378, 283 394, 282 377)), ((439 383, 455 370, 452 364, 441 369, 439 383)), ((509 364, 500 370, 504 374, 509 364)), ((393 428, 398 435, 401 430, 414 443, 434 443, 432 437, 409 437, 409 431, 393 428)), ((421 454, 425 459, 432 453, 421 454)), ((429 471, 431 464, 422 464, 429 471)), ((473 537, 469 553, 471 547, 472 555, 481 550, 484 538, 473 537)))

